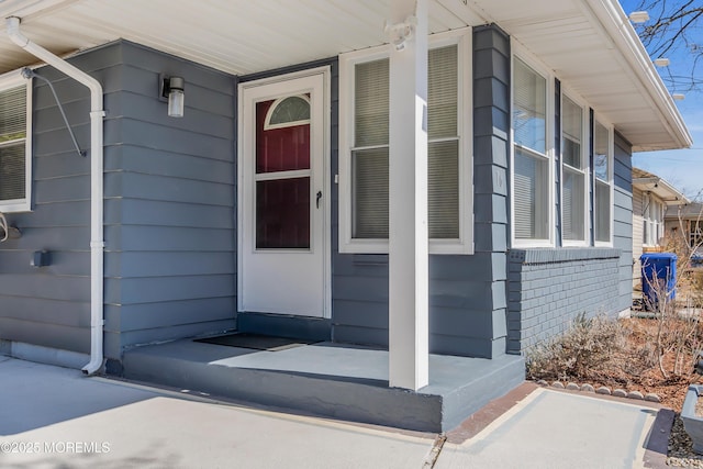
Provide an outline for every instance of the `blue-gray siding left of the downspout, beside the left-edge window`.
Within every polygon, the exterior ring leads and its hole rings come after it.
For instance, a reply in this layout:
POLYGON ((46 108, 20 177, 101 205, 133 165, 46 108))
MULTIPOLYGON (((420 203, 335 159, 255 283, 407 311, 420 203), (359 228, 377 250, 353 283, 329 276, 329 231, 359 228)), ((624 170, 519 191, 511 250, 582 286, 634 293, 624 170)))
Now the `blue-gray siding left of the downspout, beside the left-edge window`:
MULTIPOLYGON (((115 49, 104 47, 70 62, 104 85, 105 107, 116 105, 115 49)), ((49 79, 79 145, 89 148, 88 89, 51 67, 49 79)), ((90 350, 90 159, 74 149, 56 101, 35 79, 33 101, 32 212, 8 214, 22 232, 0 245, 0 339, 87 354, 90 350), (30 267, 32 253, 51 252, 47 267, 30 267)), ((108 120, 105 142, 118 139, 108 120)))

